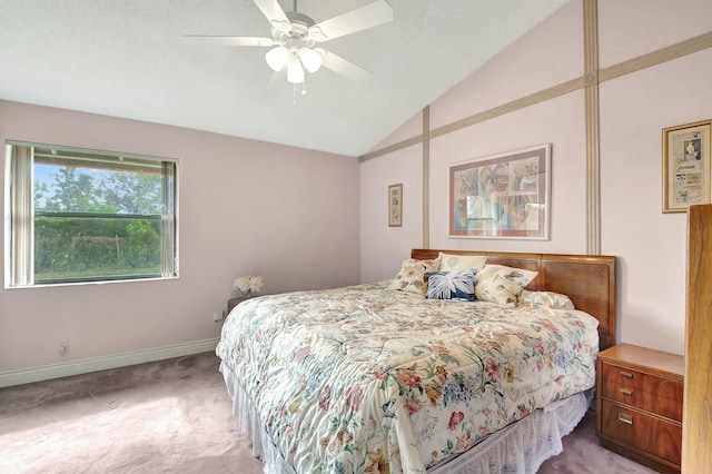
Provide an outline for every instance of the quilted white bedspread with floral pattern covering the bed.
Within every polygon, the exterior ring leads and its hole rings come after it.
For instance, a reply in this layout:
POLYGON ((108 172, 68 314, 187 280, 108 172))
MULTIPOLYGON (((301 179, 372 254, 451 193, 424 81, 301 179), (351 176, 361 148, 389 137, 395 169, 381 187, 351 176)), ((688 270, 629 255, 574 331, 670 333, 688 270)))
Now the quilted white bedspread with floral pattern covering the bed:
POLYGON ((594 385, 590 315, 386 286, 253 298, 225 323, 217 354, 298 473, 424 473, 594 385))

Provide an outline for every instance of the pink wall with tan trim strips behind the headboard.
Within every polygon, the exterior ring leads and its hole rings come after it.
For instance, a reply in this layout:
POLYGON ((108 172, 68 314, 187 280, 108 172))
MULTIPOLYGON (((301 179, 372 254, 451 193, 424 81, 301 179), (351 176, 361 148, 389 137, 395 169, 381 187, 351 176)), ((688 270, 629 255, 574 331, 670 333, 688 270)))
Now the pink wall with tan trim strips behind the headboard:
MULTIPOLYGON (((609 67, 710 31, 709 0, 599 0, 600 67, 609 67)), ((432 128, 545 90, 583 75, 583 0, 573 0, 431 105, 432 128)), ((619 257, 619 340, 682 354, 685 326, 685 214, 662 214, 664 127, 712 119, 712 50, 703 50, 600 86, 601 250, 619 257)), ((586 251, 586 141, 583 90, 566 93, 431 141, 432 248, 586 251), (447 236, 447 167, 492 154, 552 144, 551 239, 516 241, 447 236)), ((405 139, 403 130, 398 139, 405 139)), ((389 142, 389 140, 384 140, 389 142)), ((409 147, 415 150, 417 147, 409 147)), ((397 151, 362 164, 362 279, 388 277, 387 246, 405 256, 418 230, 364 229, 385 203, 365 200, 385 182, 417 179, 397 151), (375 171, 377 169, 377 172, 375 171), (369 206, 374 206, 372 209, 369 206), (368 220, 368 219, 367 219, 368 220), (385 244, 383 244, 385 243, 385 244), (370 251, 370 250, 369 250, 370 251)), ((418 150, 411 161, 419 167, 418 150)), ((416 182, 412 182, 417 186, 416 182)), ((383 190, 385 195, 385 187, 383 190)), ((419 211, 419 200, 404 199, 419 211)), ((384 218, 385 224, 385 218, 384 218)))

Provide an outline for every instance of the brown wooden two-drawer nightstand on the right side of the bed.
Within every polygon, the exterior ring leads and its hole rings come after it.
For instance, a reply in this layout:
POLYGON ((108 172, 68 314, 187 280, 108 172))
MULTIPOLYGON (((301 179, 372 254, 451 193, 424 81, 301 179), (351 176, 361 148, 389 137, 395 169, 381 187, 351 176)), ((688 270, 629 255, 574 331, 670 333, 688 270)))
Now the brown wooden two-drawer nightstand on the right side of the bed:
POLYGON ((619 344, 599 354, 596 434, 604 447, 679 473, 684 357, 619 344))

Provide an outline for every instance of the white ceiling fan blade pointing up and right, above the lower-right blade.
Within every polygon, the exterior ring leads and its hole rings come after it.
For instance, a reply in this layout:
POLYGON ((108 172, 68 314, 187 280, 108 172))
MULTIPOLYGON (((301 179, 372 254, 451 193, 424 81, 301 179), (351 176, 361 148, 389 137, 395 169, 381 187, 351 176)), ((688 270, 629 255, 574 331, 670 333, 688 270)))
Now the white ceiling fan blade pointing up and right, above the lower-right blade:
POLYGON ((309 27, 309 38, 324 42, 390 21, 393 21, 393 8, 385 0, 376 0, 309 27))

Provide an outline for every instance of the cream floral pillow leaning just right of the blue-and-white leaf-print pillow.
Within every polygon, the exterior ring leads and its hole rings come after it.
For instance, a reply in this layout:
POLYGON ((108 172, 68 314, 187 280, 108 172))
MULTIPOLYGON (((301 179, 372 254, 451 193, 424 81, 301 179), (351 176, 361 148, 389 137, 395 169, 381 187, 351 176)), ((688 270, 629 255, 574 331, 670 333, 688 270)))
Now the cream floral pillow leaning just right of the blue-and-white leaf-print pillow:
POLYGON ((516 306, 520 295, 538 271, 504 265, 485 265, 477 271, 475 296, 482 302, 492 302, 501 306, 516 306))

